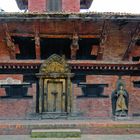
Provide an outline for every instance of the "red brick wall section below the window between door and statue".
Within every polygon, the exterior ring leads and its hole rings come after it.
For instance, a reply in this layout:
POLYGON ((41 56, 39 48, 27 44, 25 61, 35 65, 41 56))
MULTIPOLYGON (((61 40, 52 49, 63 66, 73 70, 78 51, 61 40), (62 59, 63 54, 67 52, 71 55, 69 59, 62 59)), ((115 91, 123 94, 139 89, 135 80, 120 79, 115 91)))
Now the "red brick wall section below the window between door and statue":
POLYGON ((109 98, 78 98, 77 109, 84 117, 110 117, 109 98))

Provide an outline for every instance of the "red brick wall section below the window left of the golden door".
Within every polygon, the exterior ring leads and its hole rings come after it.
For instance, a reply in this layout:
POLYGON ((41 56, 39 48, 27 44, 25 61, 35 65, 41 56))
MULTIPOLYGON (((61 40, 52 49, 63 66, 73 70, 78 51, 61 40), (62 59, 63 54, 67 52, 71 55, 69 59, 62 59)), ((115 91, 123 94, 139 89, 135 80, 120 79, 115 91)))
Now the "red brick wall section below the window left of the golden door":
POLYGON ((0 119, 25 119, 33 112, 33 99, 0 99, 0 119))

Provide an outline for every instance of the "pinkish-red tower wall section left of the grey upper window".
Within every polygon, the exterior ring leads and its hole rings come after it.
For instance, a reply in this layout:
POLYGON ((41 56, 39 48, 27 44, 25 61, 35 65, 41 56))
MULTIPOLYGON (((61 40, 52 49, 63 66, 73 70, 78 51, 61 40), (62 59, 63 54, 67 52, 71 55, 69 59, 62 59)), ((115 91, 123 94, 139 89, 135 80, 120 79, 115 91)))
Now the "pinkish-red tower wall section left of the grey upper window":
POLYGON ((45 12, 47 0, 28 0, 29 12, 45 12))

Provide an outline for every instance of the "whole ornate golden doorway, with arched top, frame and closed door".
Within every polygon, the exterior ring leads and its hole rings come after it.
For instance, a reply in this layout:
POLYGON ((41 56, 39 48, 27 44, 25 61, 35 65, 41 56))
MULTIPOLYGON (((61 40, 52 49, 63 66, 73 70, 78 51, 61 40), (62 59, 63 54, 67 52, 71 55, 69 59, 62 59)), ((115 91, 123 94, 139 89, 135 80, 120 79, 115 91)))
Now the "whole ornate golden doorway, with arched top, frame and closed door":
POLYGON ((69 65, 59 55, 50 56, 40 67, 39 113, 70 114, 72 112, 71 77, 69 65))

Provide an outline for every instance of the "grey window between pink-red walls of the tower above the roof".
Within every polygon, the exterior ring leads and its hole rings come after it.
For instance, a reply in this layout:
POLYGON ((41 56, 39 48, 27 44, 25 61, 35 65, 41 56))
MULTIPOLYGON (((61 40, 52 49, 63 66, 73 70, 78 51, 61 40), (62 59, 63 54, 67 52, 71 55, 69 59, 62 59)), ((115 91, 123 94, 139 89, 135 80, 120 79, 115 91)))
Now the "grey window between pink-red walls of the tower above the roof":
POLYGON ((62 0, 47 0, 47 11, 61 11, 62 0))

